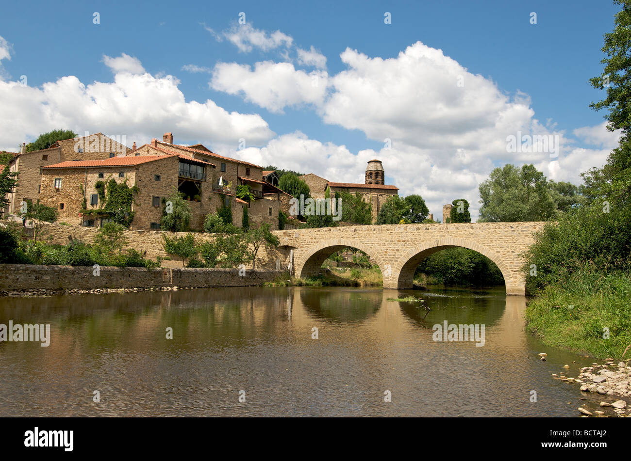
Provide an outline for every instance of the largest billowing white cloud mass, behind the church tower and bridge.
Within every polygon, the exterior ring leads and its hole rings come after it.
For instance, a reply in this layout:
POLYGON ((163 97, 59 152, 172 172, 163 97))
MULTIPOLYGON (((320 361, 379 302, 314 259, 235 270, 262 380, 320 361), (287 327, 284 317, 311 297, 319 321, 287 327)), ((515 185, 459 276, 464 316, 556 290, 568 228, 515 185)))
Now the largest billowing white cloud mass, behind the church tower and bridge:
POLYGON ((327 76, 324 94, 306 91, 300 83, 306 83, 307 74, 287 63, 257 63, 254 70, 221 64, 212 84, 276 112, 310 103, 324 122, 361 130, 377 142, 389 139, 391 149, 332 156, 328 152, 343 146, 315 144, 292 134, 272 140, 259 154, 263 163, 331 181, 362 182, 365 162, 377 157, 401 195, 419 193, 435 217, 442 215, 445 203, 466 198, 475 219, 478 185, 497 166, 534 163, 550 179, 580 183, 580 173, 601 166, 607 149, 615 144, 616 136, 603 127, 584 127, 574 135, 598 149, 575 147, 575 140, 555 123, 534 118, 528 94, 517 90, 510 96, 490 79, 468 72, 441 50, 421 42, 391 59, 368 57, 350 48, 340 57, 348 69, 327 76), (551 159, 551 152, 507 152, 507 136, 518 132, 557 136, 558 159, 551 159))

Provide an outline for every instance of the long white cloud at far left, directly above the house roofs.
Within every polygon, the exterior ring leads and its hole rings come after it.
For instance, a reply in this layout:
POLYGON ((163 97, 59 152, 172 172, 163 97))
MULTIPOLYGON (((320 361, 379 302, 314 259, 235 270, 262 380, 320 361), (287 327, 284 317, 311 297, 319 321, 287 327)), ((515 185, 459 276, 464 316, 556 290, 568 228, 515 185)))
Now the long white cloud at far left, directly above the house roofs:
POLYGON ((186 101, 172 76, 117 72, 114 82, 81 83, 66 76, 40 88, 0 82, 0 149, 35 139, 54 128, 126 135, 128 144, 149 142, 171 131, 176 142, 191 140, 237 144, 245 138, 255 145, 274 136, 257 114, 227 110, 214 101, 186 101))

